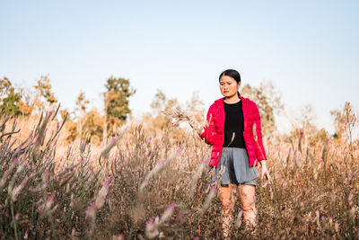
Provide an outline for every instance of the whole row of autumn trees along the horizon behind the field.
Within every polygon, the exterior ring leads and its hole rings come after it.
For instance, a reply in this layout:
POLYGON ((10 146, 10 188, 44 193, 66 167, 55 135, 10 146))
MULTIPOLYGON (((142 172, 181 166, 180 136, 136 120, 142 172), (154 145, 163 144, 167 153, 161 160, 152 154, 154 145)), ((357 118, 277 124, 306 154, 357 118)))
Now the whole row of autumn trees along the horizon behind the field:
MULTIPOLYGON (((74 110, 60 111, 63 119, 67 116, 66 138, 68 142, 72 142, 76 138, 91 138, 93 143, 99 144, 103 139, 117 134, 118 128, 127 121, 131 113, 128 107, 129 99, 136 93, 136 89, 130 85, 129 79, 115 76, 110 76, 104 86, 106 89, 102 93, 104 109, 99 110, 90 106, 91 102, 86 98, 85 93, 81 92, 77 96, 74 110)), ((291 142, 293 141, 292 137, 300 138, 302 135, 307 137, 308 144, 315 144, 315 142, 327 138, 350 143, 354 141, 355 136, 352 135, 356 116, 349 102, 346 102, 342 109, 330 112, 335 126, 335 133, 331 136, 328 135, 326 129, 318 129, 312 123, 311 106, 303 108, 300 120, 296 120, 289 133, 279 135, 277 130, 280 126, 278 126, 276 115, 285 112, 285 104, 274 84, 270 81, 262 82, 258 87, 245 84, 241 88, 241 95, 249 97, 258 104, 264 137, 271 141, 291 142)), ((48 76, 40 76, 31 89, 15 87, 5 76, 0 78, 2 116, 9 114, 15 118, 28 118, 57 104, 58 101, 48 76)), ((179 139, 184 137, 184 129, 180 126, 171 126, 171 120, 162 114, 162 111, 171 112, 178 107, 184 107, 190 116, 199 121, 205 120, 206 108, 197 93, 193 93, 191 99, 185 104, 180 104, 176 98, 168 97, 162 90, 158 90, 151 103, 152 111, 143 116, 144 125, 154 134, 171 129, 177 131, 176 136, 179 139)))

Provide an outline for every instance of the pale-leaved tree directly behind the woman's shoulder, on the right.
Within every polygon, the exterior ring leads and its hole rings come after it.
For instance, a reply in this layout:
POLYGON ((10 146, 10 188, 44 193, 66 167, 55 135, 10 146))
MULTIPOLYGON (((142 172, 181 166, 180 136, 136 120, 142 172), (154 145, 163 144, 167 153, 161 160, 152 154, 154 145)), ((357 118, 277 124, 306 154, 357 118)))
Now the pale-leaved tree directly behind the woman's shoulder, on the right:
POLYGON ((274 84, 270 81, 260 83, 259 87, 245 84, 241 90, 244 97, 257 103, 262 121, 262 130, 265 138, 269 138, 276 131, 275 114, 284 109, 281 96, 276 92, 274 84))

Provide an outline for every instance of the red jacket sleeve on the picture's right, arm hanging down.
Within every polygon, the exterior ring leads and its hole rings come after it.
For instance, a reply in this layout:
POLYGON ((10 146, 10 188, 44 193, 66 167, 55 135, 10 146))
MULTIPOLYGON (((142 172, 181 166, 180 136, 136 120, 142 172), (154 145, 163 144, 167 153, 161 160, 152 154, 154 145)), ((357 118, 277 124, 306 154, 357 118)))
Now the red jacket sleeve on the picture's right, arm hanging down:
POLYGON ((263 141, 262 141, 262 124, 260 121, 260 115, 259 115, 257 104, 254 102, 253 102, 253 109, 254 109, 254 111, 253 111, 253 135, 255 136, 254 148, 255 148, 257 160, 258 161, 266 160, 267 159, 266 151, 264 150, 263 141))

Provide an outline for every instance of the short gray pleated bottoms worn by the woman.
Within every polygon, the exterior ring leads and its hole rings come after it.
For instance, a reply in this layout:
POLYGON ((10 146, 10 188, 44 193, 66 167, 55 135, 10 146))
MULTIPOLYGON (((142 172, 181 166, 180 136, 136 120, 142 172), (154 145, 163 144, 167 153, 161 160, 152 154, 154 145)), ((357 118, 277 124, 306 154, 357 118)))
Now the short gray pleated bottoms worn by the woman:
POLYGON ((222 173, 222 184, 257 185, 258 169, 250 167, 247 150, 238 147, 223 147, 217 167, 211 171, 211 183, 219 181, 222 173), (221 171, 222 169, 222 171, 221 171))

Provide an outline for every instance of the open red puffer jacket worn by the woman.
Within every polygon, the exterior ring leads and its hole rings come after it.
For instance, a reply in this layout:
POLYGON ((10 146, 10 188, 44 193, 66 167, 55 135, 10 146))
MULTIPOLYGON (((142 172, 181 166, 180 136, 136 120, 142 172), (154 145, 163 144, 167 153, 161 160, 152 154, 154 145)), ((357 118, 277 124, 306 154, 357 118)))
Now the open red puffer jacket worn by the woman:
MULTIPOLYGON (((258 161, 267 159, 262 142, 260 115, 255 102, 241 96, 240 98, 244 118, 243 138, 250 158, 250 166, 252 166, 256 159, 258 161), (257 135, 257 141, 255 135, 257 135)), ((207 144, 213 145, 210 166, 217 166, 223 149, 225 117, 223 100, 224 98, 218 99, 209 107, 206 118, 207 127, 205 132, 199 135, 207 144)))

